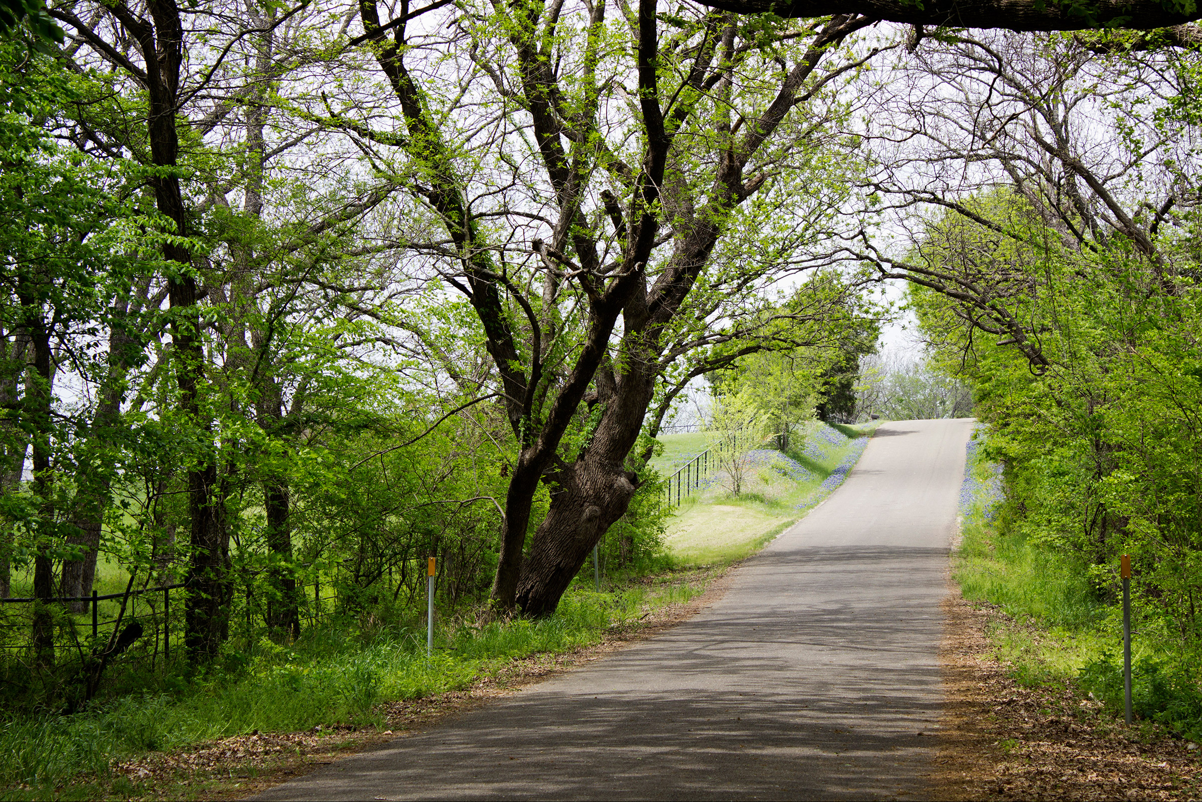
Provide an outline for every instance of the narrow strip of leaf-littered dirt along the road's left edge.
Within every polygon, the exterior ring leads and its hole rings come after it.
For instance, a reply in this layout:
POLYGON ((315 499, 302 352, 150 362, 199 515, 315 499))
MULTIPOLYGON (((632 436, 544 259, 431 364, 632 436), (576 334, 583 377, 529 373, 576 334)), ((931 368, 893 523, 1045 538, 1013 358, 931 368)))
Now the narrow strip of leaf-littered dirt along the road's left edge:
POLYGON ((734 568, 688 575, 706 582, 706 592, 688 602, 657 607, 642 619, 606 631, 600 643, 561 654, 536 654, 512 661, 501 671, 457 691, 387 702, 379 711, 386 726, 315 727, 307 732, 250 733, 173 753, 151 753, 114 765, 120 778, 112 792, 131 800, 240 800, 273 785, 302 777, 335 760, 421 731, 448 715, 507 696, 534 683, 572 671, 631 643, 653 637, 721 599, 734 568))

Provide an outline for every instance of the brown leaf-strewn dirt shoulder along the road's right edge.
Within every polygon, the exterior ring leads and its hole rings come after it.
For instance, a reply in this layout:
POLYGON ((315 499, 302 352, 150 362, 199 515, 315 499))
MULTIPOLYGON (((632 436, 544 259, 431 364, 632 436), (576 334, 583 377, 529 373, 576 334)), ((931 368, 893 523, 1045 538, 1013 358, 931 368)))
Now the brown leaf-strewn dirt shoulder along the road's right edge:
POLYGON ((1000 610, 956 592, 944 612, 934 798, 1202 798, 1202 749, 1148 723, 1127 727, 1072 685, 1019 685, 992 657, 1000 610))

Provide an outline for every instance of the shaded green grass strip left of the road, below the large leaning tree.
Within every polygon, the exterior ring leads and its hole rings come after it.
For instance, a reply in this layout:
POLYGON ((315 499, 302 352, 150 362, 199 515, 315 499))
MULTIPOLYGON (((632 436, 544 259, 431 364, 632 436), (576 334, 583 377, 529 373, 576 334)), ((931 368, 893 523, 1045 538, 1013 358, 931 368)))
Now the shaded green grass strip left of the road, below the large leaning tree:
POLYGON ((216 738, 315 726, 379 727, 383 702, 463 689, 513 660, 599 643, 606 631, 648 611, 685 602, 709 574, 649 577, 611 592, 577 583, 553 616, 439 634, 426 655, 424 628, 333 620, 291 646, 268 638, 231 644, 224 665, 185 676, 175 666, 142 677, 137 695, 103 700, 73 715, 53 711, 0 724, 0 800, 121 797, 115 762, 186 749, 216 738), (231 669, 231 666, 236 666, 231 669))

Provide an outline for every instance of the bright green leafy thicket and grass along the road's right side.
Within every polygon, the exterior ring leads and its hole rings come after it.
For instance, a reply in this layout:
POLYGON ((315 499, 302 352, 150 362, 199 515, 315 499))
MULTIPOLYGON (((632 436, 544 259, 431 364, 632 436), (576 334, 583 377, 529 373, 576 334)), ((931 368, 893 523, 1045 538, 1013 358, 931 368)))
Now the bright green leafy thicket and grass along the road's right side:
POLYGON ((1005 275, 1007 303, 1033 321, 1042 361, 1005 339, 970 337, 954 302, 911 291, 924 331, 939 343, 936 362, 972 386, 977 416, 990 427, 984 453, 1005 467, 999 529, 966 527, 958 570, 965 596, 1072 634, 1079 642, 1071 648, 1031 652, 1072 655, 1047 676, 1079 671, 1083 687, 1113 705, 1121 702, 1118 564, 1130 554, 1137 712, 1196 732, 1202 385, 1192 368, 1202 296, 1190 278, 1166 283, 1121 248, 1054 245, 1013 196, 975 203, 1014 236, 946 215, 932 222, 920 250, 929 263, 1005 275))

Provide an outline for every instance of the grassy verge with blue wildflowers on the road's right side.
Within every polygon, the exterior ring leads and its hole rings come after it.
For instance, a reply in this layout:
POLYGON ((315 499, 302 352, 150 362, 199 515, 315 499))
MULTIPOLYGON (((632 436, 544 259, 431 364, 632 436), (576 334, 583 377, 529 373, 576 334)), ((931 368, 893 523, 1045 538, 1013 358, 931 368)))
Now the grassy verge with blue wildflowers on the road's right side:
MULTIPOLYGON (((1106 590, 1113 583, 1095 586, 1096 572, 1084 559, 1007 531, 998 516, 1004 504, 998 467, 970 442, 953 577, 965 599, 998 605, 1006 614, 989 632, 996 657, 1020 684, 1072 685, 1121 717, 1121 606, 1106 590)), ((1141 626, 1138 610, 1132 629, 1136 715, 1202 739, 1200 667, 1177 638, 1141 626)))

